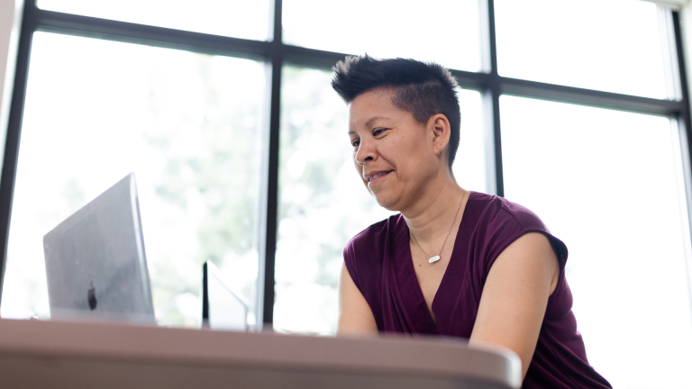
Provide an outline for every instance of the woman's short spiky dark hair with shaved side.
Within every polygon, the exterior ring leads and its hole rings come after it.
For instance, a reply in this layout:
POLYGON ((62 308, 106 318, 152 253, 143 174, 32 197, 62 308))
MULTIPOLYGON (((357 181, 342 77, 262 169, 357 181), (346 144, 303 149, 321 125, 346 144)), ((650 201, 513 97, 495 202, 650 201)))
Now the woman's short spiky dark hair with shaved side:
POLYGON ((449 164, 459 149, 461 113, 456 79, 447 68, 415 59, 373 59, 368 54, 348 57, 334 68, 332 88, 346 103, 377 88, 395 91, 396 107, 414 114, 417 122, 428 122, 442 113, 450 121, 449 164))

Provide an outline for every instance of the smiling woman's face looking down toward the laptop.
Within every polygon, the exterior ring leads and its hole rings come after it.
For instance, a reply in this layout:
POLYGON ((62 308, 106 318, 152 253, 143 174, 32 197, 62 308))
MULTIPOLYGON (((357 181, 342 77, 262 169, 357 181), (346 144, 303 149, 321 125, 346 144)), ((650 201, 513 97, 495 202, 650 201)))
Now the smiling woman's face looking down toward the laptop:
POLYGON ((376 89, 349 106, 353 163, 378 204, 402 211, 424 194, 439 170, 434 124, 392 104, 394 92, 376 89), (430 127, 430 128, 428 128, 430 127))

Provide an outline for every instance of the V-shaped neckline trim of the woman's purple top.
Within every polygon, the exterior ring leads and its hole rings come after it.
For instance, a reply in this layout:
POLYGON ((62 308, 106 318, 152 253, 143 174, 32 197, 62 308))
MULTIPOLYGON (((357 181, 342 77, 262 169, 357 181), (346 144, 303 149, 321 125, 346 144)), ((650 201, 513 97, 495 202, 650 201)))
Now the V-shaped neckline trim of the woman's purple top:
POLYGON ((459 251, 461 249, 461 246, 464 246, 463 240, 469 239, 469 237, 460 236, 460 234, 467 224, 468 218, 464 216, 467 214, 466 210, 469 203, 471 202, 471 196, 474 193, 475 192, 469 191, 469 199, 466 202, 466 206, 464 206, 463 213, 461 213, 459 229, 457 230, 456 236, 454 237, 454 246, 451 249, 451 257, 449 262, 447 263, 447 267, 444 269, 444 274, 442 275, 440 285, 435 291, 435 295, 432 296, 431 309, 428 309, 428 303, 425 302, 423 289, 421 288, 421 284, 418 282, 417 276, 415 276, 414 259, 411 254, 411 248, 408 239, 409 230, 408 225, 405 222, 405 228, 402 229, 402 233, 399 235, 399 242, 397 242, 396 246, 397 249, 403 249, 404 252, 401 252, 399 255, 396 256, 399 259, 396 261, 397 284, 399 286, 405 286, 405 289, 407 289, 404 291, 400 288, 400 293, 402 297, 405 296, 405 298, 403 298, 405 303, 405 309, 407 311, 411 311, 409 317, 412 319, 412 321, 414 321, 414 325, 415 327, 417 327, 416 330, 419 330, 422 333, 438 334, 438 328, 441 322, 440 319, 441 317, 446 317, 446 315, 440 315, 439 313, 436 313, 435 306, 438 305, 437 302, 440 300, 438 299, 438 296, 441 295, 440 291, 443 291, 446 288, 446 285, 451 282, 449 281, 450 274, 456 273, 454 271, 454 268, 457 266, 461 266, 460 260, 453 259, 455 258, 455 256, 460 255, 459 251), (435 314, 437 322, 432 320, 432 313, 435 314))

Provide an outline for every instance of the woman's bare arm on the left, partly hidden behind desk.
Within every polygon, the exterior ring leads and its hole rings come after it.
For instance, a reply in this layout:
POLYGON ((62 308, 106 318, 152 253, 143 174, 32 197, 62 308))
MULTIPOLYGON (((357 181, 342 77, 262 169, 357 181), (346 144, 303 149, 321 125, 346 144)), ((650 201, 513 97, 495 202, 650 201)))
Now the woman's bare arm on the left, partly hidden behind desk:
POLYGON ((360 293, 344 264, 339 282, 339 325, 337 335, 378 334, 378 324, 369 303, 360 293))

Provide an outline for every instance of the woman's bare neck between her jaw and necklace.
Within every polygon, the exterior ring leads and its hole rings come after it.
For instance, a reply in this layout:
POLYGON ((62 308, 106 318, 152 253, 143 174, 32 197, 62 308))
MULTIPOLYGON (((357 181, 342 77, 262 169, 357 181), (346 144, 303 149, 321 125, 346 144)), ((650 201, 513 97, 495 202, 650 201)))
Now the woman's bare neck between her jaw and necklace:
POLYGON ((448 177, 427 185, 427 190, 415 204, 401 211, 408 229, 419 242, 435 240, 442 232, 449 231, 455 216, 459 221, 456 213, 466 191, 457 184, 454 176, 448 177))

